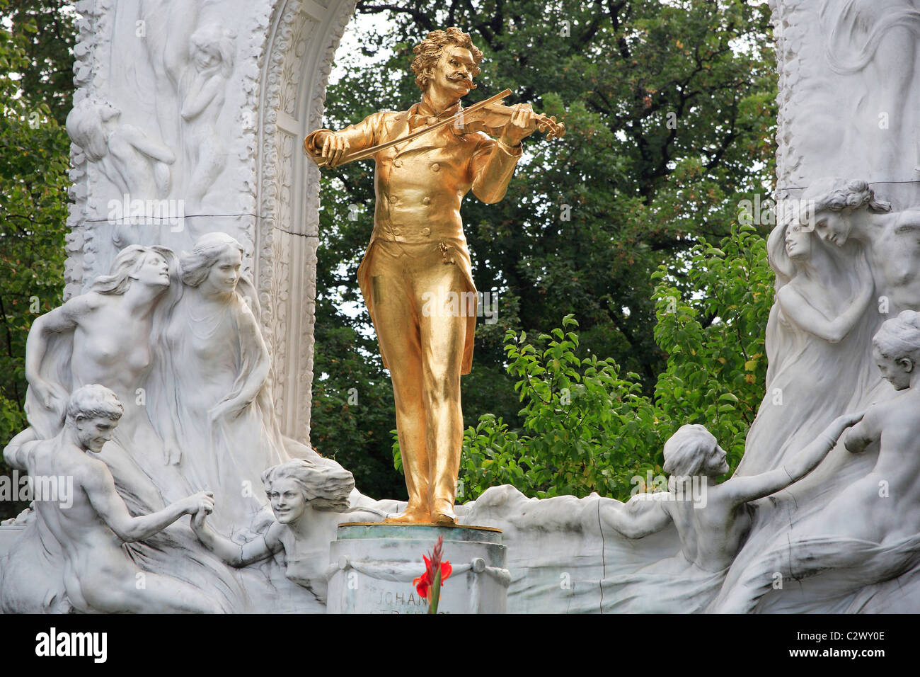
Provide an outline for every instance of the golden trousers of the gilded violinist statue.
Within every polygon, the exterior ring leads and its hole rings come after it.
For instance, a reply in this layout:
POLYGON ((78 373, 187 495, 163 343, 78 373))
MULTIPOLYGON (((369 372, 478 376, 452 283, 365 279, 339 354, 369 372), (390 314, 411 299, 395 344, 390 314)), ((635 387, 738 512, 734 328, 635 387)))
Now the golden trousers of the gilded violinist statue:
POLYGON ((467 302, 475 290, 451 245, 378 239, 371 250, 374 328, 393 380, 408 511, 449 514, 463 447, 466 318, 476 314, 476 301, 467 302))

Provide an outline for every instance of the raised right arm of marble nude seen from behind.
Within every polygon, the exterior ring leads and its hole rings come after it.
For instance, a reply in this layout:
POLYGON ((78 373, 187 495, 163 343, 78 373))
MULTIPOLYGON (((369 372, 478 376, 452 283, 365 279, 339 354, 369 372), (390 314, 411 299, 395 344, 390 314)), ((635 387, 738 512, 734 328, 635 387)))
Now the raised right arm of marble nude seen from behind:
POLYGON ((798 482, 802 477, 811 473, 830 450, 834 449, 837 439, 843 435, 844 430, 857 423, 862 416, 862 413, 839 416, 830 426, 824 428, 817 439, 799 451, 782 467, 749 477, 732 477, 728 482, 722 484, 724 491, 728 493, 730 501, 735 505, 776 494, 777 491, 785 489, 789 484, 798 482))

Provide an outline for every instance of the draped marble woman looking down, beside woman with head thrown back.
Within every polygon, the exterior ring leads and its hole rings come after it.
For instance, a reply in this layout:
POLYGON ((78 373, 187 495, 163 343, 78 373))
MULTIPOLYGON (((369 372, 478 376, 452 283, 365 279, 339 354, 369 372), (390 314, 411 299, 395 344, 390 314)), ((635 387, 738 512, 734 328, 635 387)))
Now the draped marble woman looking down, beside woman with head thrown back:
POLYGON ((191 486, 213 490, 232 520, 222 526, 249 525, 263 508, 251 485, 287 458, 267 433, 270 356, 242 293, 252 291, 242 264, 242 245, 224 233, 180 257, 152 385, 171 458, 191 486))

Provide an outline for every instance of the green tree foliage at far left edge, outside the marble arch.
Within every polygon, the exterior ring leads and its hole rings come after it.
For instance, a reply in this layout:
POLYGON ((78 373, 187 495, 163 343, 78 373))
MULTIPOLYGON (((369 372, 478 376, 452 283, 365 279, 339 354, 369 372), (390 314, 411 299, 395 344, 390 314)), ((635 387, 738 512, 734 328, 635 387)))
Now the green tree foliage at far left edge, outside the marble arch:
MULTIPOLYGON (((52 113, 63 94, 25 87, 34 72, 29 49, 37 44, 40 22, 0 0, 0 440, 28 426, 25 401, 26 338, 31 322, 61 304, 64 232, 67 219, 70 141, 52 113), (6 28, 6 27, 9 28, 6 28), (45 99, 47 95, 50 99, 45 99)), ((62 19, 63 21, 64 19, 62 19)), ((73 33, 73 26, 71 25, 73 33)), ((46 36, 47 37, 47 36, 46 36)), ((55 47, 54 58, 64 57, 55 47)), ((34 55, 34 53, 33 53, 34 55)), ((57 68, 71 66, 58 63, 57 68)), ((8 472, 5 466, 0 471, 8 472)), ((11 517, 21 505, 4 504, 11 517)))

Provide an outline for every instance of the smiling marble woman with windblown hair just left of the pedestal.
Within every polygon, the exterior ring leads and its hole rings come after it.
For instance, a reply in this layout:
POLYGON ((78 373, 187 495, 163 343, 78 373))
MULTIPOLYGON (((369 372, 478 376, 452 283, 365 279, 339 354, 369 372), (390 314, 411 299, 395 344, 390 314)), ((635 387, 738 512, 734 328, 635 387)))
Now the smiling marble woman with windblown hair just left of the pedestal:
POLYGON ((262 473, 275 521, 264 534, 244 545, 216 534, 206 523, 206 510, 192 518, 201 543, 231 566, 248 566, 273 554, 284 554, 286 576, 310 589, 325 603, 328 545, 336 528, 347 521, 380 521, 384 515, 367 508, 349 509, 351 473, 295 459, 262 473))

